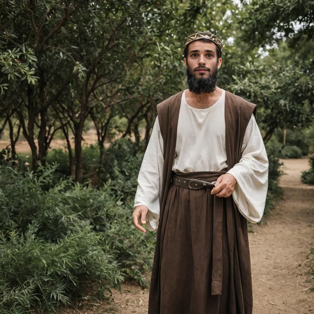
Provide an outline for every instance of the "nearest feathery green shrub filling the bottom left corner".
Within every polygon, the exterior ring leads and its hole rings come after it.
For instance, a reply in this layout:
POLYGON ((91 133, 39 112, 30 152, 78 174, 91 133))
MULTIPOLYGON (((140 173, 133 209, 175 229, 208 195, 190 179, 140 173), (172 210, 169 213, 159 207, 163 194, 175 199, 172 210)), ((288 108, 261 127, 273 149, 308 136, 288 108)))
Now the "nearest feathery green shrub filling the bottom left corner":
POLYGON ((75 233, 56 243, 38 238, 37 227, 33 223, 24 235, 0 234, 1 313, 25 313, 36 306, 53 311, 58 304, 71 304, 87 280, 100 285, 102 280, 116 285, 123 280, 114 256, 102 249, 102 237, 88 224, 81 222, 75 233))

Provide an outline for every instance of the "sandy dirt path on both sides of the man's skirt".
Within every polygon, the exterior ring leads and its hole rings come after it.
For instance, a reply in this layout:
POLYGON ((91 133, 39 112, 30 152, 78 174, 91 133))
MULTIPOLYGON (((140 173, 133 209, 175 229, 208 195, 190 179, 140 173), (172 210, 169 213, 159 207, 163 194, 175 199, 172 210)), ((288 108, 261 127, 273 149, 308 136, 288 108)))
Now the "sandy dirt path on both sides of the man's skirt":
MULTIPOLYGON (((306 259, 314 247, 314 187, 300 181, 308 159, 284 160, 284 165, 286 175, 280 182, 283 199, 263 224, 253 225, 249 233, 253 314, 314 314, 314 292, 307 289, 314 278, 307 273, 306 259)), ((110 304, 64 313, 147 314, 147 306, 148 290, 124 284, 122 294, 114 291, 110 304)))

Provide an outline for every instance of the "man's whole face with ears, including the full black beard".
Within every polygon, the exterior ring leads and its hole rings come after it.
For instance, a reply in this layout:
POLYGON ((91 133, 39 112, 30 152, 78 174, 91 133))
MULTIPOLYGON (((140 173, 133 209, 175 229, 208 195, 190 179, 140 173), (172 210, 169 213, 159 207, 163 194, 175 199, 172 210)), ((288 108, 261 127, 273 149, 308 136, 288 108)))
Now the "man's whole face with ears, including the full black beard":
POLYGON ((193 41, 188 46, 187 59, 183 61, 187 68, 187 84, 192 93, 212 93, 216 89, 222 59, 217 59, 213 42, 193 41))

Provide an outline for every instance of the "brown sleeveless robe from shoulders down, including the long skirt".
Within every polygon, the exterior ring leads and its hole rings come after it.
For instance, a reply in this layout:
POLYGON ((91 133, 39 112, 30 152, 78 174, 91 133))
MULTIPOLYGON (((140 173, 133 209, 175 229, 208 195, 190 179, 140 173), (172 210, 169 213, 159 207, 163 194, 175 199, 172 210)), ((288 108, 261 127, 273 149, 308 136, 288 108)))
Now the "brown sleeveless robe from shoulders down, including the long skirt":
MULTIPOLYGON (((219 198, 211 195, 210 189, 190 190, 171 184, 182 93, 157 105, 164 169, 148 313, 251 314, 252 279, 245 217, 232 196, 219 198), (179 225, 176 215, 183 218, 179 225)), ((238 163, 252 113, 256 116, 256 105, 226 91, 228 168, 180 175, 216 181, 238 163)))

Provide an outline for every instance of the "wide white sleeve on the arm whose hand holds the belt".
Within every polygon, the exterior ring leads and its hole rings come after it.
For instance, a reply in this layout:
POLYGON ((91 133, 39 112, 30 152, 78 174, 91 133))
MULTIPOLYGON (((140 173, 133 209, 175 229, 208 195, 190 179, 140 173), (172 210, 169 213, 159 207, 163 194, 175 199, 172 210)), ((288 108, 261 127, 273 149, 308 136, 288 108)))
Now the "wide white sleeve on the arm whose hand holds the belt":
POLYGON ((240 213, 250 222, 263 216, 268 189, 268 158, 254 116, 246 128, 242 157, 227 173, 237 181, 232 193, 240 213))

